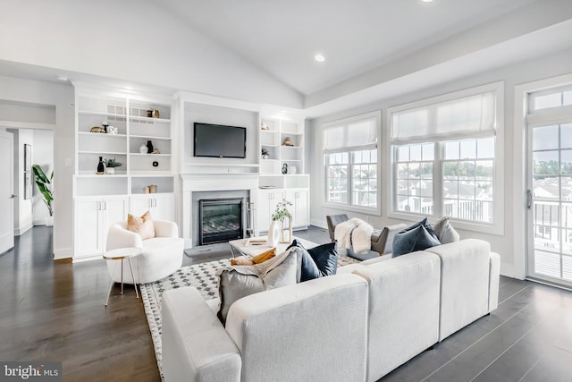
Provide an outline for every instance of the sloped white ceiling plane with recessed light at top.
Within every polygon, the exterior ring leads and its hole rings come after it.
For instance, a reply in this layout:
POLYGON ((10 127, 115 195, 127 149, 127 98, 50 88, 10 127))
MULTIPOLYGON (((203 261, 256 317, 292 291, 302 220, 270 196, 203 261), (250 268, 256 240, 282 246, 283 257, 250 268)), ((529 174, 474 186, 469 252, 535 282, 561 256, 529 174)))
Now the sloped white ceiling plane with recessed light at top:
POLYGON ((308 95, 534 0, 156 0, 308 95), (324 63, 314 55, 321 52, 324 63))

